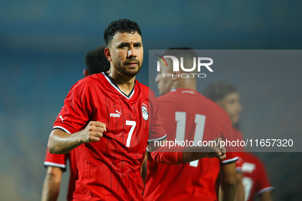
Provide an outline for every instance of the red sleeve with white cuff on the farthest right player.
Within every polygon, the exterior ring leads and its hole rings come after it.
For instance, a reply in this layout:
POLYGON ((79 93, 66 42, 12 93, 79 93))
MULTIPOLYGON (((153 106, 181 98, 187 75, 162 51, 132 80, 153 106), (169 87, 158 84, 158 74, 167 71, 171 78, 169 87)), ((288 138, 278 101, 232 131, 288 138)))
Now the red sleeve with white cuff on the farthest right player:
POLYGON ((263 192, 272 191, 274 188, 270 185, 264 164, 257 162, 257 181, 255 181, 255 194, 259 195, 263 192))

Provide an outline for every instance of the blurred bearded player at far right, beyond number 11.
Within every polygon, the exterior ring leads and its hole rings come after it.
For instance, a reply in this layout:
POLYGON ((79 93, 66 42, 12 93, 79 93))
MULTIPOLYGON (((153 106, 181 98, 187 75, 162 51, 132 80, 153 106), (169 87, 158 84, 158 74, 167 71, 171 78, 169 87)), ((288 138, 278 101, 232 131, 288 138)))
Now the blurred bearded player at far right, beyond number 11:
MULTIPOLYGON (((204 89, 203 94, 215 101, 227 112, 234 126, 235 139, 243 140, 243 134, 237 129, 239 127, 240 112, 243 109, 239 101, 237 87, 224 81, 215 82, 208 85, 204 89)), ((244 152, 243 147, 241 147, 240 152, 242 153, 240 153, 240 159, 237 162, 237 170, 243 173, 242 183, 244 186, 244 193, 242 193, 244 194, 244 199, 240 200, 251 201, 254 198, 262 201, 272 200, 270 194, 273 187, 269 184, 262 161, 257 156, 244 152)), ((242 190, 237 191, 240 193, 242 190)))

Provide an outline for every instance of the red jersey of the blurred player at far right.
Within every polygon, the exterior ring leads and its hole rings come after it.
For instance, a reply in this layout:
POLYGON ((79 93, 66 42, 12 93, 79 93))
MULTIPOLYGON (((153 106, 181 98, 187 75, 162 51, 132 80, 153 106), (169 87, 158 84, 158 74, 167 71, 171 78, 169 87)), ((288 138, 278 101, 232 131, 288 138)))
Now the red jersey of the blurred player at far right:
POLYGON ((254 196, 274 189, 268 181, 264 164, 257 156, 244 152, 237 163, 241 165, 243 172, 245 200, 254 200, 254 196))

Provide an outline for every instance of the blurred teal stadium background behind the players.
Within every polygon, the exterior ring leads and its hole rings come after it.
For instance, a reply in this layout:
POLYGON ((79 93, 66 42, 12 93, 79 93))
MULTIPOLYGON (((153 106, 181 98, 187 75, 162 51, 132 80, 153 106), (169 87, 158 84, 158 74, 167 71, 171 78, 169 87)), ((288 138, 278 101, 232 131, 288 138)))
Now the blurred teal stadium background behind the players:
MULTIPOLYGON (((137 79, 148 85, 148 49, 301 49, 301 8, 301 1, 285 0, 1 1, 0 200, 40 199, 54 118, 82 78, 85 53, 103 44, 111 21, 129 18, 140 25, 145 60, 137 79)), ((271 69, 266 83, 255 82, 261 72, 241 78, 227 71, 224 80, 239 85, 243 133, 301 134, 302 71, 287 69, 271 69), (254 96, 261 98, 255 102, 254 96)), ((258 155, 276 188, 274 200, 299 200, 302 154, 258 155)), ((67 178, 64 173, 59 200, 67 178)))

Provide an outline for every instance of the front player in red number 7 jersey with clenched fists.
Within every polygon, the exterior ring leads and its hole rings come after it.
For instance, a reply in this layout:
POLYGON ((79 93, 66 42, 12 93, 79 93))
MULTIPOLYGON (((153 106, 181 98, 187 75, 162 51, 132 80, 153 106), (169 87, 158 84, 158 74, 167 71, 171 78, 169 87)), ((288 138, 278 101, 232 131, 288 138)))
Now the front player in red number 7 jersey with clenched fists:
POLYGON ((65 154, 75 148, 79 179, 74 200, 142 200, 140 168, 147 144, 151 150, 161 150, 151 154, 161 163, 225 158, 219 138, 216 146, 182 147, 175 153, 154 147, 150 142, 165 140, 167 135, 154 93, 135 80, 143 64, 141 30, 128 19, 113 21, 104 40, 110 70, 71 88, 59 114, 63 120, 55 121, 49 137, 50 153, 65 154))

